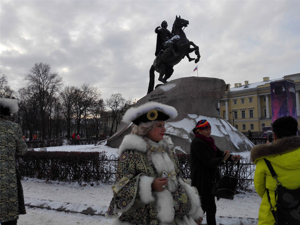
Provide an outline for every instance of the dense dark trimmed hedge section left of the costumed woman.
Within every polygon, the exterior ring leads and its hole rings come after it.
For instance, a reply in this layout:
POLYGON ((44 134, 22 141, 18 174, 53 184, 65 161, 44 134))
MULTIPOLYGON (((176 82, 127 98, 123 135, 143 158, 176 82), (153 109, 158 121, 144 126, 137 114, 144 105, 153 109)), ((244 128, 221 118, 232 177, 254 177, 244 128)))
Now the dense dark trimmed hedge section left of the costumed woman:
POLYGON ((27 151, 16 157, 16 165, 31 178, 89 182, 101 179, 99 157, 99 152, 27 151))

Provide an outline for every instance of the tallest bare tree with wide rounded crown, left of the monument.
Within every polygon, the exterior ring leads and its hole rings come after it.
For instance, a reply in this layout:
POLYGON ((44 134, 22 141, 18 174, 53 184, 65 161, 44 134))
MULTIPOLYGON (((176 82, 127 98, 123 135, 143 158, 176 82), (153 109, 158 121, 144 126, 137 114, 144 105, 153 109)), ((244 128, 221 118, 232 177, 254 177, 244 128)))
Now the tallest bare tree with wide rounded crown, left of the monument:
POLYGON ((41 122, 41 137, 45 138, 46 133, 46 107, 52 96, 59 90, 62 85, 62 78, 57 72, 51 72, 51 66, 47 63, 39 62, 29 69, 25 74, 25 80, 28 81, 27 88, 31 89, 34 97, 38 100, 39 117, 41 122))

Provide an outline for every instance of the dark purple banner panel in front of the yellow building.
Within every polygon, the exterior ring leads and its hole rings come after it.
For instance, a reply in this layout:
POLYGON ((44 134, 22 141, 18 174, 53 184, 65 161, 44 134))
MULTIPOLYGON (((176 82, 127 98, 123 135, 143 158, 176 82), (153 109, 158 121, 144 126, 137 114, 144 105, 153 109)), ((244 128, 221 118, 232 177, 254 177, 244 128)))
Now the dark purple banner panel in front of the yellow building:
POLYGON ((290 115, 297 119, 295 84, 292 80, 270 82, 272 121, 290 115))

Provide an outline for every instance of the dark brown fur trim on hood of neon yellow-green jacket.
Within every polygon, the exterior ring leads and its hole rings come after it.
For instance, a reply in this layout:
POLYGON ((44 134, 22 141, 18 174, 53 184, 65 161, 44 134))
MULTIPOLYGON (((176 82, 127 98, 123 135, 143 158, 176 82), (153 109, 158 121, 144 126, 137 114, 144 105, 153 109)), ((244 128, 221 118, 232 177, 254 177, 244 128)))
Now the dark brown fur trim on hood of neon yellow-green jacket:
POLYGON ((277 139, 270 144, 257 144, 250 152, 251 161, 258 158, 283 154, 300 147, 300 136, 288 136, 277 139))

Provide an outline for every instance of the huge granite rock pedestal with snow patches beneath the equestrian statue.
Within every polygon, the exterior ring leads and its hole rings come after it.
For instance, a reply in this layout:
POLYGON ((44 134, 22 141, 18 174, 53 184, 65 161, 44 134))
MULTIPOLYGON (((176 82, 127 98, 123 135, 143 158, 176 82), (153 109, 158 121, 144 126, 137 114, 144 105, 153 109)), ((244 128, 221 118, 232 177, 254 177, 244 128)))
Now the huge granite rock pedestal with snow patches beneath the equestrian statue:
MULTIPOLYGON (((176 108, 178 116, 166 121, 165 134, 171 136, 177 153, 189 153, 190 142, 194 137, 192 129, 196 122, 203 118, 211 124, 211 136, 220 149, 228 149, 230 152, 250 150, 253 143, 220 118, 215 108, 225 90, 226 84, 222 79, 195 76, 178 78, 160 85, 139 99, 136 106, 148 101, 157 101, 176 108)), ((106 143, 117 148, 123 136, 131 132, 131 124, 121 122, 115 134, 97 144, 106 143)))

